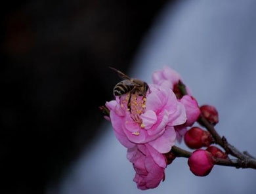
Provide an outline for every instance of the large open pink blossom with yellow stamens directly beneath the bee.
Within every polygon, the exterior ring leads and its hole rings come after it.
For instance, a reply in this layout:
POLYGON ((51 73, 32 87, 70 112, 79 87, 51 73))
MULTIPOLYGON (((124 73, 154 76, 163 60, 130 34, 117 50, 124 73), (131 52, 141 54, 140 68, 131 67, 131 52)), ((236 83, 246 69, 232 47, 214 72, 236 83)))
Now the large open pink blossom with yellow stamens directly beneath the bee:
POLYGON ((125 147, 150 144, 160 153, 167 153, 175 144, 174 126, 186 122, 186 111, 170 88, 149 85, 146 98, 129 94, 106 102, 117 139, 125 147))

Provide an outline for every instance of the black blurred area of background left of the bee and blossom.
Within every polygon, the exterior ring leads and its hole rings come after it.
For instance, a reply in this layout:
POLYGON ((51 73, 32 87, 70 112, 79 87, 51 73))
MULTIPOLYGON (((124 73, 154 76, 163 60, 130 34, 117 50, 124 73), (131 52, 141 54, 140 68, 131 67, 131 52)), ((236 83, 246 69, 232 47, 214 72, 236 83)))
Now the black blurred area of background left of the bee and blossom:
POLYGON ((127 72, 167 1, 5 3, 1 193, 44 193, 102 133, 98 106, 118 81, 108 66, 127 72))

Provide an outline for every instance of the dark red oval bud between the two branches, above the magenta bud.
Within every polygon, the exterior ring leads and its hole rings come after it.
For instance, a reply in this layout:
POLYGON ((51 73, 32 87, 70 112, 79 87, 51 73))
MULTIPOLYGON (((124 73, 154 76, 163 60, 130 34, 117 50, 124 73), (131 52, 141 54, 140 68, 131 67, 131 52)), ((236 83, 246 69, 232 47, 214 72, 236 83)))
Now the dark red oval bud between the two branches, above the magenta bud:
POLYGON ((191 149, 198 149, 203 146, 208 147, 213 142, 213 138, 208 131, 202 130, 199 127, 192 127, 186 131, 184 142, 191 149))

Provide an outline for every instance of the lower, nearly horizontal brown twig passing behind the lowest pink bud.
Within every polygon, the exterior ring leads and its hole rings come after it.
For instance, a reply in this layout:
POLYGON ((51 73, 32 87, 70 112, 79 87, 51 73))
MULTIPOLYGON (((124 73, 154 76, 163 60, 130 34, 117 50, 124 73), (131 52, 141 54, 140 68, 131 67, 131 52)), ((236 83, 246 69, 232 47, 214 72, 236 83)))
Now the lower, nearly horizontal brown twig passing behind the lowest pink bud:
MULTIPOLYGON (((186 151, 184 149, 181 149, 181 147, 173 146, 171 148, 171 152, 176 155, 176 157, 185 157, 189 158, 192 153, 190 151, 186 151)), ((253 168, 256 169, 256 161, 253 159, 219 159, 214 157, 216 165, 221 166, 234 166, 236 168, 253 168)))

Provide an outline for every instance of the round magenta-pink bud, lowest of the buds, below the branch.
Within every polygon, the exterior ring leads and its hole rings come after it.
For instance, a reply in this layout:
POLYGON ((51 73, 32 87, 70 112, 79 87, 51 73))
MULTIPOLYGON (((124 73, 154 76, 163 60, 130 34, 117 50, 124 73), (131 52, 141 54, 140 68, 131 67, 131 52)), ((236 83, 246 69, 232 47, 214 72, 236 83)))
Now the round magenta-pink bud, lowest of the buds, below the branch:
POLYGON ((203 149, 197 149, 188 159, 188 166, 191 172, 196 176, 208 175, 214 165, 215 161, 211 153, 203 149))

